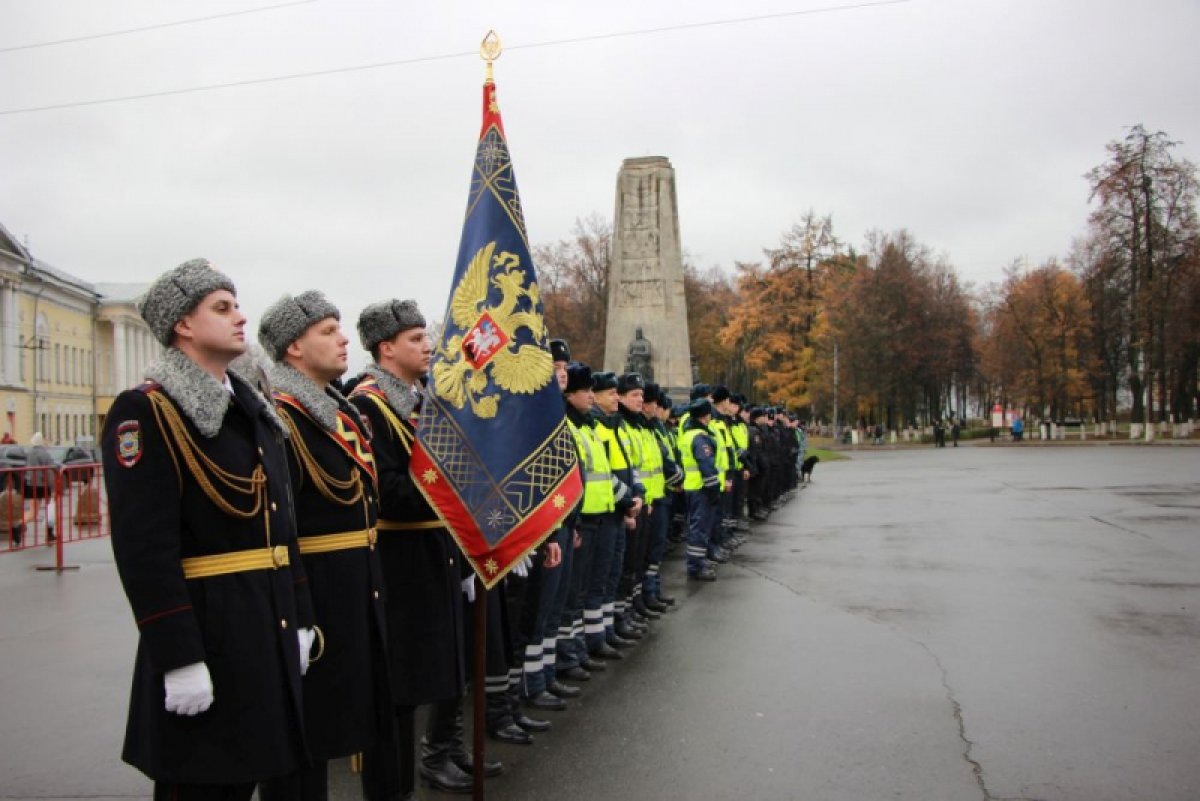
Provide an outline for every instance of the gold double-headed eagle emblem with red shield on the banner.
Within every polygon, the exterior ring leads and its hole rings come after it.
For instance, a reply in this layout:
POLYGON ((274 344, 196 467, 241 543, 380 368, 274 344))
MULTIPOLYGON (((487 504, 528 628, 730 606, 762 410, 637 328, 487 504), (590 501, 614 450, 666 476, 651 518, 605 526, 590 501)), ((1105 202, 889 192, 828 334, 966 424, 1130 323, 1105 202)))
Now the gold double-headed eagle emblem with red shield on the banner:
POLYGON ((546 338, 546 323, 534 311, 541 300, 538 283, 526 285, 524 277, 520 257, 496 253, 496 242, 488 242, 454 290, 450 318, 464 333, 438 347, 442 360, 433 365, 433 384, 437 396, 455 409, 469 403, 478 417, 494 417, 500 395, 484 395, 493 383, 506 392, 533 395, 553 377, 550 351, 516 338, 521 329, 528 329, 533 343, 546 338), (497 306, 487 306, 491 287, 500 290, 497 306), (528 312, 518 311, 523 297, 529 300, 528 312))

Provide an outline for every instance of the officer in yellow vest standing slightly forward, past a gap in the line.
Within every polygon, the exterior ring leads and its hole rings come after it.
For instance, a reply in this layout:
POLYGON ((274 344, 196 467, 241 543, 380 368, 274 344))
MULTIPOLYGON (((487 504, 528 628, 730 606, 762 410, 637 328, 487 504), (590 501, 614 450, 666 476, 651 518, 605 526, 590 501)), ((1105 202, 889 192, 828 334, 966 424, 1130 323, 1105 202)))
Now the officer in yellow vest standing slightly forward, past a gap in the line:
POLYGON ((703 398, 692 401, 688 411, 688 422, 679 436, 679 463, 688 498, 688 578, 712 582, 716 579, 716 568, 708 561, 708 547, 721 499, 716 444, 708 429, 713 404, 703 398))

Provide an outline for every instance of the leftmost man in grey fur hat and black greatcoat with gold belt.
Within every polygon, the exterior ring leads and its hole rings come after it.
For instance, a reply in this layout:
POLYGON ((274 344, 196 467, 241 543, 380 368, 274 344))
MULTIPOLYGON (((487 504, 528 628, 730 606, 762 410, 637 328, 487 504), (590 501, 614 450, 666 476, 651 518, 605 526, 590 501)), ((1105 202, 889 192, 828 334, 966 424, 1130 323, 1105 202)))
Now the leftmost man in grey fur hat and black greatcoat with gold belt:
POLYGON ((166 347, 102 434, 113 553, 138 625, 122 757, 155 799, 250 799, 306 758, 313 614, 272 404, 233 283, 196 259, 139 301, 166 347))

